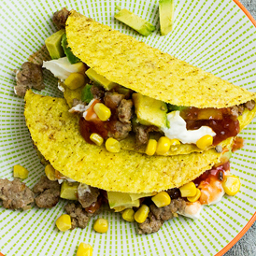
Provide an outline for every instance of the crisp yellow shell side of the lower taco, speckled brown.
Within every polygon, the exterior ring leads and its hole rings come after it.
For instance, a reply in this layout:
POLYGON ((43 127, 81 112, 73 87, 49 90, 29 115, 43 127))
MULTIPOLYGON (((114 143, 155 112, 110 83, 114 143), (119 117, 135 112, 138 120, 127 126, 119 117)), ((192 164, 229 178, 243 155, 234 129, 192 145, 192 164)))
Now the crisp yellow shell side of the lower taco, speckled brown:
POLYGON ((197 178, 220 161, 220 153, 147 156, 134 151, 110 153, 79 134, 78 117, 64 99, 28 91, 24 116, 37 149, 69 178, 113 192, 160 192, 197 178))

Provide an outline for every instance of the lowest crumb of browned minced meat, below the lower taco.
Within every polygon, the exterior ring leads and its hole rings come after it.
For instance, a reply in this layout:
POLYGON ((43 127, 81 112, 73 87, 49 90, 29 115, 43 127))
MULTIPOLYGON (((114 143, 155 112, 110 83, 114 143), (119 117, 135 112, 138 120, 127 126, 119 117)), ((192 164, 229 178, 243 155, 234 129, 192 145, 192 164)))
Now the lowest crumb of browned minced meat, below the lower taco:
POLYGON ((158 232, 162 227, 164 220, 157 220, 152 212, 149 212, 149 217, 143 222, 138 224, 138 234, 151 234, 158 232))

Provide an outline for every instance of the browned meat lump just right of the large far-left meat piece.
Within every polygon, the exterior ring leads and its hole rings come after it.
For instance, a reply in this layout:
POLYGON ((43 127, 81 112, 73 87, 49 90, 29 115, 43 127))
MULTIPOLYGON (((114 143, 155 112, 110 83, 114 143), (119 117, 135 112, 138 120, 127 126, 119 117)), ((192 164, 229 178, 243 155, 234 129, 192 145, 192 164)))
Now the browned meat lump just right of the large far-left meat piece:
POLYGON ((42 176, 33 188, 33 192, 39 193, 35 199, 36 206, 50 208, 59 202, 61 185, 58 181, 51 181, 46 176, 42 176))

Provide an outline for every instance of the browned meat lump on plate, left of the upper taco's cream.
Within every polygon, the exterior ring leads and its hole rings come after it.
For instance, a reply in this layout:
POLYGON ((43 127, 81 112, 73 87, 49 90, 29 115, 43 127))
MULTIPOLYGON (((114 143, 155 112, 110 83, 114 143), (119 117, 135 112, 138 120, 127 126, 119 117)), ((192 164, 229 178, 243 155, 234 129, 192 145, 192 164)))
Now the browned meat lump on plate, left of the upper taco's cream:
POLYGON ((15 71, 17 85, 14 86, 14 92, 18 96, 24 97, 26 91, 31 88, 39 91, 45 88, 43 71, 40 65, 26 62, 21 65, 21 70, 15 71))

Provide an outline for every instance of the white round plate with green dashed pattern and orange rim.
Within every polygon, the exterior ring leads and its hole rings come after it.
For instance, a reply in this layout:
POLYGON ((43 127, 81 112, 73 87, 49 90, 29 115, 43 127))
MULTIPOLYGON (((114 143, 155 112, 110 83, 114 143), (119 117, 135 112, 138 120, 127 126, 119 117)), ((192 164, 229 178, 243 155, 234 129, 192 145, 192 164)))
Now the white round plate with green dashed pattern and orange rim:
MULTIPOLYGON (((12 167, 21 164, 30 173, 25 180, 32 188, 43 174, 23 117, 23 100, 13 94, 13 69, 39 50, 46 37, 56 31, 52 13, 74 8, 92 19, 164 50, 190 64, 256 92, 256 33, 244 12, 231 0, 176 0, 175 24, 168 36, 159 34, 158 1, 120 1, 139 16, 156 25, 151 36, 114 20, 116 1, 0 1, 0 178, 12 178, 12 167)), ((54 82, 46 78, 42 94, 61 96, 54 82)), ((76 255, 80 242, 93 246, 93 255, 215 255, 222 254, 256 210, 256 121, 242 132, 246 146, 235 152, 232 172, 242 182, 234 197, 224 196, 217 206, 206 206, 200 220, 178 218, 164 222, 153 235, 136 235, 135 224, 107 211, 107 234, 86 229, 62 233, 55 220, 64 213, 65 202, 52 209, 33 207, 12 211, 0 206, 0 251, 5 255, 76 255)), ((250 220, 250 222, 249 222, 250 220)))

